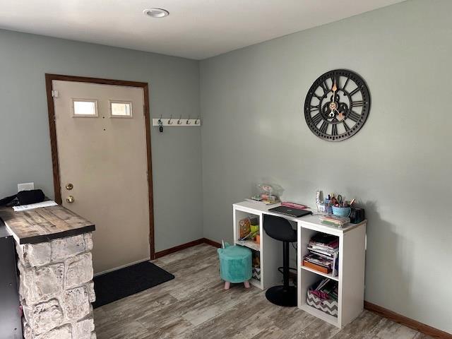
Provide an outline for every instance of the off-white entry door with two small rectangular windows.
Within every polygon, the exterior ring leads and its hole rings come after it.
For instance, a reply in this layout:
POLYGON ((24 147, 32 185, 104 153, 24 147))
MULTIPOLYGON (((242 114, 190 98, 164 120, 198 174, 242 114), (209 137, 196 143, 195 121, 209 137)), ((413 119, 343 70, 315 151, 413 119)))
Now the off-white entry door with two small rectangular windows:
POLYGON ((95 273, 150 258, 143 89, 52 81, 63 206, 95 223, 95 273))

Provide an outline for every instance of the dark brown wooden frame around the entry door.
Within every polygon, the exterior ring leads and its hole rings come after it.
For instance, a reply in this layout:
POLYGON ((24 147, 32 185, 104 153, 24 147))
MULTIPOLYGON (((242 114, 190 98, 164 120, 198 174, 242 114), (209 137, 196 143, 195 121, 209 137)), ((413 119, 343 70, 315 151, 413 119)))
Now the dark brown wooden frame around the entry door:
POLYGON ((47 109, 49 111, 50 148, 52 150, 52 167, 54 174, 55 201, 61 205, 61 180, 59 175, 57 128, 55 125, 55 107, 52 97, 52 81, 74 81, 78 83, 98 83, 100 85, 116 85, 143 88, 144 121, 146 138, 146 161, 148 165, 148 197, 149 197, 149 244, 150 258, 155 259, 154 238, 154 198, 153 198, 153 166, 150 149, 150 114, 149 114, 149 86, 148 83, 138 81, 123 81, 103 78, 89 78, 85 76, 65 76, 61 74, 45 74, 45 87, 47 92, 47 109))

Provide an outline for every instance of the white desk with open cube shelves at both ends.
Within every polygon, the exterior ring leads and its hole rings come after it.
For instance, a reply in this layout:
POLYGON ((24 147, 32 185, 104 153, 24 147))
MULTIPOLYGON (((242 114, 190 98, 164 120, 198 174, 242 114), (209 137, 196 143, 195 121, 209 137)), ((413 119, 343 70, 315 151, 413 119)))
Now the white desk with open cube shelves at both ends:
MULTIPOLYGON (((364 309, 364 265, 367 220, 359 224, 348 224, 343 228, 323 225, 319 215, 307 215, 302 218, 293 218, 269 211, 269 208, 258 203, 244 201, 233 205, 234 215, 234 243, 238 244, 238 222, 249 215, 259 218, 261 244, 259 254, 261 258, 261 281, 251 281, 253 285, 262 290, 275 285, 282 285, 282 276, 278 267, 283 263, 283 243, 266 235, 263 231, 263 215, 278 215, 297 224, 297 297, 298 307, 307 311, 323 321, 343 328, 350 323, 364 309), (302 258, 307 254, 307 245, 311 237, 317 232, 333 234, 339 237, 339 268, 338 276, 324 274, 302 266, 302 258), (306 303, 307 290, 316 281, 331 278, 338 283, 338 316, 331 316, 319 309, 310 307, 306 303)), ((245 244, 246 246, 246 244, 245 244)))

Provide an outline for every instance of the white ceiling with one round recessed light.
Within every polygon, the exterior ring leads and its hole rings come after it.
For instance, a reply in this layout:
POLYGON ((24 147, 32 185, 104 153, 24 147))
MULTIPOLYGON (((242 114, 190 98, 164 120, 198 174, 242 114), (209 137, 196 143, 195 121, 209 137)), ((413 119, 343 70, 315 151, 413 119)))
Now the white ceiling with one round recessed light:
POLYGON ((205 59, 401 1, 0 0, 0 28, 205 59))

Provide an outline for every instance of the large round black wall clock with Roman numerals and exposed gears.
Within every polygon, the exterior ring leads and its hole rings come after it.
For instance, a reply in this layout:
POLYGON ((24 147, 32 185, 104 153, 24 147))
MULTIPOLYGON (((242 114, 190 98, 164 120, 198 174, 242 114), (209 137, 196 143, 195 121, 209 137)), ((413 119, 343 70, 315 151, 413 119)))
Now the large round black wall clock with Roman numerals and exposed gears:
POLYGON ((352 71, 335 69, 321 75, 304 100, 309 129, 326 141, 341 141, 364 126, 370 95, 364 80, 352 71))

